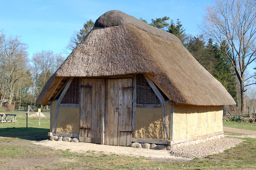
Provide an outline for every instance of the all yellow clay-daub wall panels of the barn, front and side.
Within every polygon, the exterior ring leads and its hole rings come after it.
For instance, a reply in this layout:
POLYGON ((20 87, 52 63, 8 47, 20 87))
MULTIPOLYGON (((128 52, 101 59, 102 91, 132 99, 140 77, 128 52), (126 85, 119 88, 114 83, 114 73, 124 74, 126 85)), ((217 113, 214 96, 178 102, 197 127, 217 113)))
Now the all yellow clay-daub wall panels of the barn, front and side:
MULTIPOLYGON (((51 132, 57 101, 51 105, 51 132)), ((167 134, 170 134, 171 105, 167 106, 167 134)), ((187 139, 223 131, 222 106, 174 105, 173 140, 187 139)), ((79 134, 79 107, 59 107, 57 133, 79 134)), ((139 108, 135 112, 135 138, 164 140, 162 109, 139 108)), ((170 137, 168 136, 168 140, 170 137)))

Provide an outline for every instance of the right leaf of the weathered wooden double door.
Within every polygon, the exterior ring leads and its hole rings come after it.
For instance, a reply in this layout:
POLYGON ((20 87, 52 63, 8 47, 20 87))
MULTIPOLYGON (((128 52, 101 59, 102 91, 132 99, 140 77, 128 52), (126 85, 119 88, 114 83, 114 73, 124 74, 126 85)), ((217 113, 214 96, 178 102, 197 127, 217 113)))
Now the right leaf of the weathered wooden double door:
POLYGON ((107 99, 108 137, 105 143, 128 146, 132 143, 132 79, 109 79, 107 99))

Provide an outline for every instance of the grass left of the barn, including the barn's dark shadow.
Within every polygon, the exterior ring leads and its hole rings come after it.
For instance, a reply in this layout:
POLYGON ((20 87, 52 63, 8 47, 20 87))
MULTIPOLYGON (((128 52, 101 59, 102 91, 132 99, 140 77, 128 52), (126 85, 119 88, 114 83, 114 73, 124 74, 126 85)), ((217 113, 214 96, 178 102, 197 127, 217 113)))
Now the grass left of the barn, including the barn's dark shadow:
MULTIPOLYGON (((38 126, 38 117, 36 118, 28 117, 28 130, 26 130, 26 112, 12 111, 12 112, 4 112, 4 113, 17 114, 17 117, 16 117, 17 122, 0 123, 0 135, 50 132, 50 113, 49 112, 43 112, 43 114, 46 117, 41 117, 40 126, 38 126)), ((30 114, 33 114, 33 112, 30 112, 30 114)), ((12 119, 12 117, 8 119, 12 119)))

